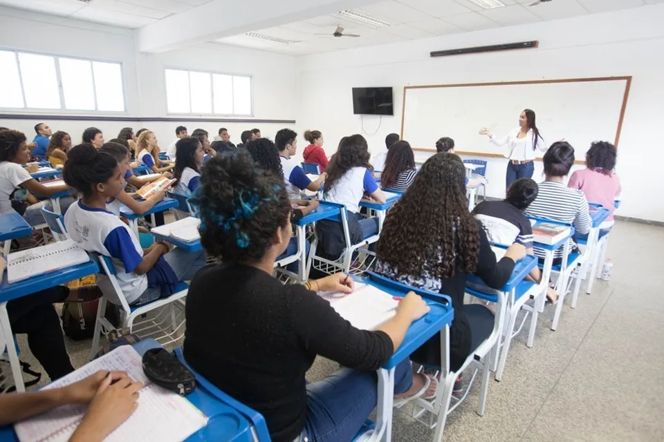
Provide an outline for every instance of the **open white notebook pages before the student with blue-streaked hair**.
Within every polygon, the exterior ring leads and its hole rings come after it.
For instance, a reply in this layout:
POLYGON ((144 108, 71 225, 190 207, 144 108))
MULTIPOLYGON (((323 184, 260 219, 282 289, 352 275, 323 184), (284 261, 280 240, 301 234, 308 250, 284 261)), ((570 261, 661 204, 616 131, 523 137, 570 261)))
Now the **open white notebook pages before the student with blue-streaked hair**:
POLYGON ((323 292, 320 296, 330 302, 342 318, 360 330, 376 330, 396 315, 399 301, 373 285, 356 285, 353 293, 323 292))

